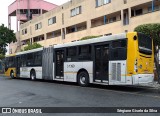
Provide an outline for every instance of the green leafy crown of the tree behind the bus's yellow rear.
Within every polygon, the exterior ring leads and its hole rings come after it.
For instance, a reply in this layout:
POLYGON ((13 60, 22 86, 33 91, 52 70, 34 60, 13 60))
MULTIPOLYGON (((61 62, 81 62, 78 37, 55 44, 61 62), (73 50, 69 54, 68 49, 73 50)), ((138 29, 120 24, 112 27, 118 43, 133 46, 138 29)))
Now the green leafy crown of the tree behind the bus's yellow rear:
POLYGON ((154 44, 160 46, 160 23, 139 25, 134 31, 149 35, 154 44))

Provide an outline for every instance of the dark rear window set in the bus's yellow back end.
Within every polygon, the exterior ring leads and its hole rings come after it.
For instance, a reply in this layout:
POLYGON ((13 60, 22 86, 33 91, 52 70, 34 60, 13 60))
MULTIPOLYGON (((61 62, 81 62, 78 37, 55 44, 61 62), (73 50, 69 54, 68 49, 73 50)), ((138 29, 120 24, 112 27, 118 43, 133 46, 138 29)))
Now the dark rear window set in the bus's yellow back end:
POLYGON ((142 33, 138 33, 139 52, 146 55, 152 54, 152 39, 142 33))

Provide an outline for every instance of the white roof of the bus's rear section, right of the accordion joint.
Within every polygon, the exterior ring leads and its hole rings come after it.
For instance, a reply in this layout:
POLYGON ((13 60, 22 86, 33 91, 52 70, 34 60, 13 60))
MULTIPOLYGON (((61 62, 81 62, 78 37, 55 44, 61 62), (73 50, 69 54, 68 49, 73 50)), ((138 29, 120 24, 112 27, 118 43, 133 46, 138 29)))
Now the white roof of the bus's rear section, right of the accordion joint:
POLYGON ((102 36, 102 37, 98 37, 98 38, 94 38, 94 39, 88 39, 88 40, 82 40, 82 41, 76 41, 76 42, 69 42, 69 43, 64 43, 64 44, 58 44, 58 45, 54 45, 54 48, 87 45, 87 44, 92 44, 92 43, 99 43, 99 42, 118 40, 118 39, 124 39, 124 38, 127 38, 126 33, 115 34, 115 35, 110 35, 110 36, 102 36))

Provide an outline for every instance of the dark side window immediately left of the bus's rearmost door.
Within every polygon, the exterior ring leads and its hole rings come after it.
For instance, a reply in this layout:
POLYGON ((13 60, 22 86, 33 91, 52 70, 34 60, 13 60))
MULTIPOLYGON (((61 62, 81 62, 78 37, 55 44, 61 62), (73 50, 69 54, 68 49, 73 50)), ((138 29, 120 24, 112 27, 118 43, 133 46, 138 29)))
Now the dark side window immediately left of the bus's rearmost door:
POLYGON ((91 60, 91 46, 84 45, 79 47, 78 53, 79 60, 91 60))

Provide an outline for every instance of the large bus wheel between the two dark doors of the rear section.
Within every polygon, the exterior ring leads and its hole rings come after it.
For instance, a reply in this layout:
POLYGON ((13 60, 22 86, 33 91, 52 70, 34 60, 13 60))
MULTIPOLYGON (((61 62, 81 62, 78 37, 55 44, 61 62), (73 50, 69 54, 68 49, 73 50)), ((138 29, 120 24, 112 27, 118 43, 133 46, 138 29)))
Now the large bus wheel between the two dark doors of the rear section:
POLYGON ((87 87, 89 85, 89 76, 86 71, 82 71, 78 74, 78 84, 82 87, 87 87))

